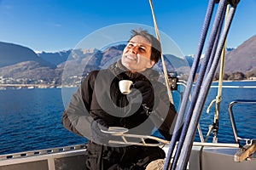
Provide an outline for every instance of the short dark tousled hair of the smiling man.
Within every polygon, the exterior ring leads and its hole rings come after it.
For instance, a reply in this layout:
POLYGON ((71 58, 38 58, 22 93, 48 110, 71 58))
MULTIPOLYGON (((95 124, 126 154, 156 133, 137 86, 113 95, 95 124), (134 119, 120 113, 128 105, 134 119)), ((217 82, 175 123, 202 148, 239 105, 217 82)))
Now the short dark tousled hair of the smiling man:
MULTIPOLYGON (((157 63, 161 56, 161 46, 158 39, 156 39, 153 35, 149 34, 147 30, 139 29, 139 30, 131 30, 131 38, 135 36, 145 37, 148 42, 151 43, 151 56, 150 59, 154 60, 157 63)), ((129 41, 131 40, 129 39, 129 41)))

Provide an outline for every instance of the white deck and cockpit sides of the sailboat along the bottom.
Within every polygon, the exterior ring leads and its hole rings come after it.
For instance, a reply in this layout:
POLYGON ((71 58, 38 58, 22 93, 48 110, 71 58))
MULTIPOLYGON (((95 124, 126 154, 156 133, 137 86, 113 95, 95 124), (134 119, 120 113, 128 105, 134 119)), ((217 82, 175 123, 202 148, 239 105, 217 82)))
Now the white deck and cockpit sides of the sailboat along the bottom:
MULTIPOLYGON (((256 157, 250 161, 234 161, 237 148, 205 146, 200 156, 200 146, 194 146, 189 159, 189 170, 255 170, 256 157)), ((167 152, 169 146, 164 150, 167 152)), ((37 150, 15 155, 0 156, 0 170, 84 170, 86 149, 77 145, 52 150, 37 150), (40 152, 40 153, 39 153, 40 152), (33 155, 36 153, 36 155, 33 155), (11 158, 11 156, 13 156, 11 158), (7 158, 9 157, 9 158, 7 158)))

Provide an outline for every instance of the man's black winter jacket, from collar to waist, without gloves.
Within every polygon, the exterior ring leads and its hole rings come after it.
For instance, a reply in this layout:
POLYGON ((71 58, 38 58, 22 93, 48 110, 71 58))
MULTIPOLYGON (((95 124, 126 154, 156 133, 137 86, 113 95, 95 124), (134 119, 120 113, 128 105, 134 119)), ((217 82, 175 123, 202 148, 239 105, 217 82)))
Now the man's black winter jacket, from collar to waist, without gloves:
POLYGON ((159 73, 148 69, 143 74, 132 74, 119 65, 120 62, 106 70, 90 72, 64 111, 64 127, 90 139, 90 123, 102 118, 109 127, 126 127, 130 129, 129 133, 150 135, 157 127, 170 140, 174 127, 172 122, 177 113, 169 102, 166 87, 157 82, 159 73), (153 85, 154 108, 150 115, 140 103, 129 102, 127 96, 120 93, 119 81, 123 79, 149 81, 153 85))

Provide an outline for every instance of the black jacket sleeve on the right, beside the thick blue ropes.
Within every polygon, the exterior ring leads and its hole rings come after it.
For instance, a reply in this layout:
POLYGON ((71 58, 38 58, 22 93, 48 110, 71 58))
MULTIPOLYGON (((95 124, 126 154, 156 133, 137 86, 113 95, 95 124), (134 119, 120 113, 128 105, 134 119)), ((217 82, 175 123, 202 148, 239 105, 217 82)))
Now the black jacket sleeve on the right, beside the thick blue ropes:
POLYGON ((177 111, 168 98, 166 87, 158 85, 155 88, 154 91, 157 92, 154 93, 155 105, 149 117, 160 133, 167 140, 171 140, 177 118, 177 111))

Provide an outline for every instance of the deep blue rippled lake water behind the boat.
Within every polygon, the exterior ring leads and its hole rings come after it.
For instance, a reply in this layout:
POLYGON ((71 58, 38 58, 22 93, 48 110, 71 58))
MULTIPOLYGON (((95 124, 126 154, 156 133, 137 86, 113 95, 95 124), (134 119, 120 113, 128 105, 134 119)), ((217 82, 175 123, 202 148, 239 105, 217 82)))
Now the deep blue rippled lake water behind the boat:
MULTIPOLYGON (((213 82, 212 85, 216 83, 213 82)), ((224 82, 224 85, 255 87, 256 82, 224 82)), ((70 88, 69 94, 65 96, 67 101, 74 90, 75 88, 70 88)), ((215 99, 217 92, 218 88, 211 88, 206 105, 215 99)), ((177 93, 173 94, 176 105, 179 103, 177 96, 177 93)), ((235 142, 228 104, 235 99, 256 99, 255 96, 256 88, 223 89, 218 142, 235 142)), ((0 155, 86 143, 86 139, 62 127, 61 116, 64 108, 61 88, 0 90, 0 155)), ((214 116, 214 107, 209 114, 206 109, 207 106, 201 115, 201 130, 204 135, 214 116)), ((234 114, 239 136, 256 139, 256 105, 234 106, 234 114)), ((199 141, 198 133, 195 140, 199 141)))

